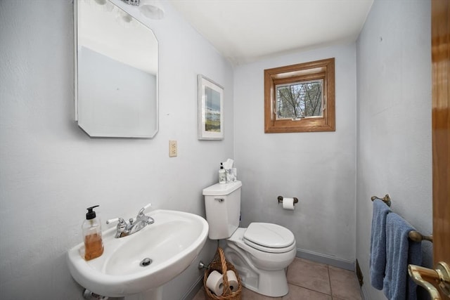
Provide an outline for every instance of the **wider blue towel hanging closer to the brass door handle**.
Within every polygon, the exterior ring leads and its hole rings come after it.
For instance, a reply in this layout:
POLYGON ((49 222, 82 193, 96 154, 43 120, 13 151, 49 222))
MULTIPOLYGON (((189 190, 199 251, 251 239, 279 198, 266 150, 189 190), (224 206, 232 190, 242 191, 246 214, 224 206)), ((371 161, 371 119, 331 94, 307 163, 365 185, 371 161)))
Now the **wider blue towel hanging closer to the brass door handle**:
POLYGON ((416 300, 417 285, 409 278, 408 264, 422 263, 421 242, 409 240, 408 233, 415 230, 398 214, 386 218, 386 275, 383 292, 387 299, 416 300))

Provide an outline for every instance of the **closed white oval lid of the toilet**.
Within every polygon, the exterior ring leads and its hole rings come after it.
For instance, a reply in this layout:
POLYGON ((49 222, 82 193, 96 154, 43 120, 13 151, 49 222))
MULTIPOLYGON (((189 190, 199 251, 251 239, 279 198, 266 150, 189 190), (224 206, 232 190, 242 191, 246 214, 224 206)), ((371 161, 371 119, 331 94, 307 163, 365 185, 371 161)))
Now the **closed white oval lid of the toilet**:
POLYGON ((285 248, 293 244, 294 234, 283 226, 272 223, 251 223, 244 233, 244 241, 268 248, 285 248))

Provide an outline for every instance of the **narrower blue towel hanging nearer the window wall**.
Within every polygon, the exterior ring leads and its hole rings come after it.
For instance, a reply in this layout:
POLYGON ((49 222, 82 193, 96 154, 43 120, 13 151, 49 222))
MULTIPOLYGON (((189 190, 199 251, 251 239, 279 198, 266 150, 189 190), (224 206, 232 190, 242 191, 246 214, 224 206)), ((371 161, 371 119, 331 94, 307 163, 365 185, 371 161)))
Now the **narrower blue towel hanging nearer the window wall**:
POLYGON ((375 289, 383 289, 386 267, 386 216, 390 208, 381 200, 373 201, 371 231, 371 284, 375 289))

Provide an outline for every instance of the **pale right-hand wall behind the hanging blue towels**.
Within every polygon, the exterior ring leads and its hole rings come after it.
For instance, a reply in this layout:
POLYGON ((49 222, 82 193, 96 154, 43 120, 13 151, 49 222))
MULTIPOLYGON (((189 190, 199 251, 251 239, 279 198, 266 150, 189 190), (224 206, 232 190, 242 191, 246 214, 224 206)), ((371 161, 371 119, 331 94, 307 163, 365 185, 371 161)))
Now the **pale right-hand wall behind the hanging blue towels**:
POLYGON ((357 41, 356 258, 368 299, 385 299, 368 273, 370 197, 388 193, 394 212, 432 233, 430 6, 375 0, 357 41))

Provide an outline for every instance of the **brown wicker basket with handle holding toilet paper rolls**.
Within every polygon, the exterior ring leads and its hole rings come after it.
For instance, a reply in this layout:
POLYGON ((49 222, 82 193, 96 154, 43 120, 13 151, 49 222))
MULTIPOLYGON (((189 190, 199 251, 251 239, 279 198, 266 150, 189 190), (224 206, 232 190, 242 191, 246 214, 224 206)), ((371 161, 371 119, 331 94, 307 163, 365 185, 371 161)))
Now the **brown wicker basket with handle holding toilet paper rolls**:
POLYGON ((234 268, 232 263, 229 263, 225 259, 224 250, 221 247, 217 247, 216 255, 210 263, 209 268, 205 270, 205 275, 203 276, 203 286, 205 287, 205 294, 207 300, 240 300, 240 294, 242 294, 242 282, 240 282, 240 277, 236 268, 234 268), (222 273, 224 276, 224 293, 219 295, 213 294, 210 289, 206 286, 206 280, 212 271, 217 270, 217 272, 222 273), (230 284, 228 282, 228 277, 226 276, 227 270, 233 270, 236 273, 236 278, 238 278, 238 289, 236 291, 231 291, 230 284))

